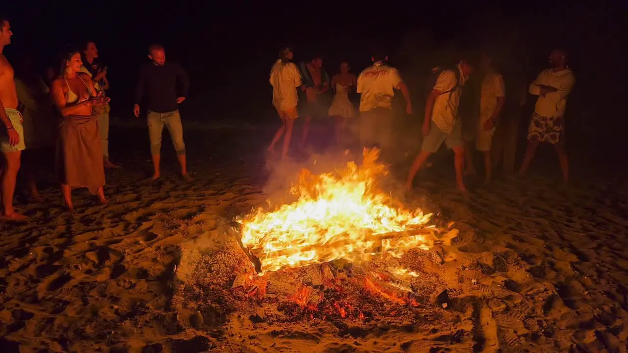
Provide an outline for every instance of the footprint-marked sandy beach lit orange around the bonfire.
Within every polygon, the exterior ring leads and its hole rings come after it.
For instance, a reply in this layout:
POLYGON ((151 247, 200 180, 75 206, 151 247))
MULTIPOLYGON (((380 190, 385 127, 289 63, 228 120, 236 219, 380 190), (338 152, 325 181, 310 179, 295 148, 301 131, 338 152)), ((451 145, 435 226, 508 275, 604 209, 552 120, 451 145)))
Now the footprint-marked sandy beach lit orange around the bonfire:
MULTIPOLYGON (((354 157, 338 151, 279 166, 263 153, 272 133, 186 131, 188 183, 165 138, 163 177, 152 183, 146 131, 112 129, 111 141, 125 143, 111 144, 123 168, 107 171, 109 205, 75 190, 77 213, 69 214, 50 176, 43 204, 18 196, 31 220, 0 222, 0 350, 627 350, 628 189, 603 168, 578 174, 582 160, 574 184, 558 187, 558 163, 545 151, 530 176, 470 182, 469 195, 453 188, 447 153, 419 173, 412 193, 391 188, 408 207, 453 222, 450 244, 353 268, 336 261, 269 273, 274 290, 265 285, 263 295, 251 292, 256 277, 238 286, 252 264, 234 217, 286 192, 300 167, 325 172, 327 160, 354 157), (544 165, 552 171, 539 172, 544 165), (356 280, 391 263, 417 274, 404 280, 416 305, 356 280)), ((394 168, 391 185, 407 168, 394 168)))

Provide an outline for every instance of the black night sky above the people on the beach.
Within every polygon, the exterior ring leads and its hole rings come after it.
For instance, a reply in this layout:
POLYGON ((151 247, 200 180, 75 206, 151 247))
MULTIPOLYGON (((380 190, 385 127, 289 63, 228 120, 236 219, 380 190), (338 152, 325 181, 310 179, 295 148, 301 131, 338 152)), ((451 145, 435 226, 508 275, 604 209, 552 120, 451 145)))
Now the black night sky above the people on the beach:
POLYGON ((482 1, 63 3, 13 1, 7 12, 14 36, 6 55, 30 50, 44 63, 64 44, 93 38, 109 63, 113 112, 122 117, 130 116, 136 70, 151 41, 163 43, 168 60, 181 62, 190 72, 188 109, 196 104, 206 111, 192 118, 224 119, 229 112, 255 120, 250 116, 272 109, 268 72, 281 45, 293 46, 296 60, 304 52, 322 52, 330 73, 341 58, 349 59, 357 72, 369 65, 374 39, 387 44, 391 62, 402 74, 413 60, 430 58, 435 48, 487 44, 506 65, 525 67, 528 79, 543 68, 551 48, 566 46, 578 97, 568 111, 578 110, 582 124, 588 124, 588 114, 611 120, 626 116, 625 105, 619 104, 625 85, 617 80, 626 77, 621 55, 626 5, 620 1, 578 6, 567 1, 495 1, 499 5, 493 6, 482 1), (600 75, 606 67, 612 67, 613 75, 600 75), (606 103, 609 94, 617 97, 615 106, 606 103), (598 111, 602 100, 604 112, 598 111))

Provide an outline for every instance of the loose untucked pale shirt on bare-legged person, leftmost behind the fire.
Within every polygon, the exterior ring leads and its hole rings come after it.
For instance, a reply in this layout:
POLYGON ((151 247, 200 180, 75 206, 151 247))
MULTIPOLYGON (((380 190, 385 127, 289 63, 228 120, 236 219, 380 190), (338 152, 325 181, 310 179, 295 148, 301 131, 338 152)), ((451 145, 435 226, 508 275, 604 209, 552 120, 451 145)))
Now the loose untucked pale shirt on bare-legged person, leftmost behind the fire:
POLYGON ((294 63, 277 60, 271 69, 270 82, 273 85, 273 106, 278 111, 296 107, 299 102, 296 87, 301 85, 301 74, 294 63))

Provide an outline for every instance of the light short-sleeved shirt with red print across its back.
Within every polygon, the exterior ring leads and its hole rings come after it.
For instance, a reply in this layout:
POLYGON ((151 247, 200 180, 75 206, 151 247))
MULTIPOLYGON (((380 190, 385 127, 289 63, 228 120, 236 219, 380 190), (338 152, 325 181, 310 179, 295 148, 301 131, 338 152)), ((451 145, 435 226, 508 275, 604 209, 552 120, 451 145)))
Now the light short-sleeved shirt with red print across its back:
POLYGON ((357 93, 360 96, 360 112, 377 107, 393 109, 394 90, 399 89, 401 76, 394 67, 376 62, 360 72, 357 77, 357 93))

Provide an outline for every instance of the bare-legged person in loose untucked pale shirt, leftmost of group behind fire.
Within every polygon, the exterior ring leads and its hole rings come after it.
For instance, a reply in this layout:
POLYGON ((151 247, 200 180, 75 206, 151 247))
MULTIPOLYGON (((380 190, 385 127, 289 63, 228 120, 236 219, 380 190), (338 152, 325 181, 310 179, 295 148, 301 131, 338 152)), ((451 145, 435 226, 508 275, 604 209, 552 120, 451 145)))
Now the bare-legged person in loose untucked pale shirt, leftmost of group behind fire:
POLYGON ((281 128, 275 133, 268 151, 274 153, 275 144, 285 133, 283 150, 281 151, 282 160, 288 158, 292 130, 295 126, 295 119, 298 117, 296 104, 298 104, 299 98, 296 94, 296 87, 301 85, 301 74, 292 62, 293 55, 290 48, 283 48, 279 52, 279 60, 274 63, 271 69, 270 78, 270 83, 273 85, 273 106, 277 109, 279 119, 281 119, 281 128))

